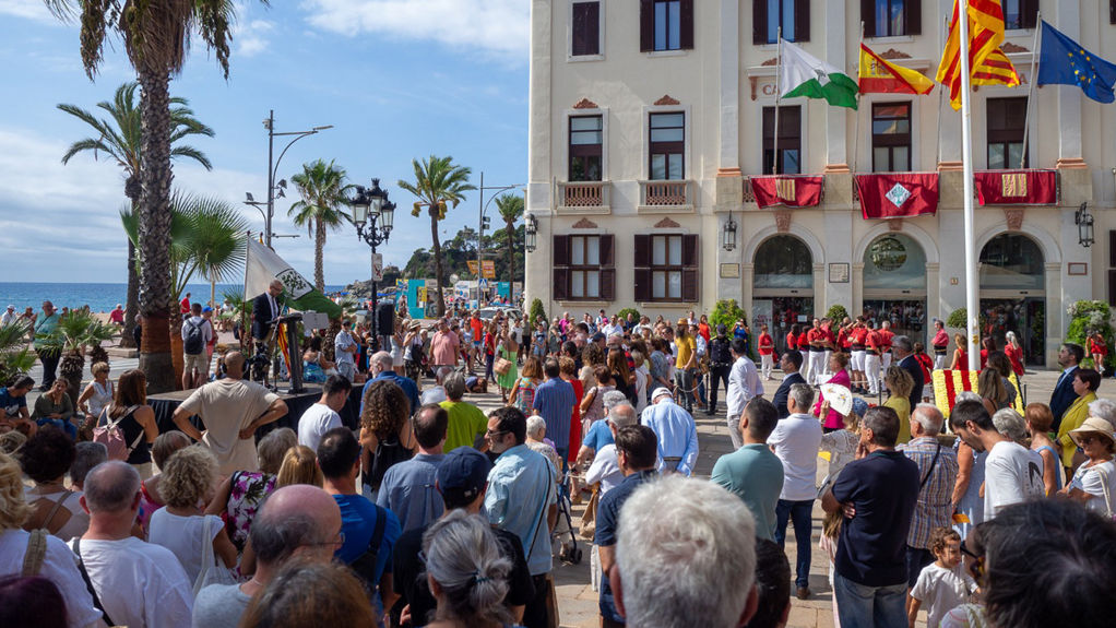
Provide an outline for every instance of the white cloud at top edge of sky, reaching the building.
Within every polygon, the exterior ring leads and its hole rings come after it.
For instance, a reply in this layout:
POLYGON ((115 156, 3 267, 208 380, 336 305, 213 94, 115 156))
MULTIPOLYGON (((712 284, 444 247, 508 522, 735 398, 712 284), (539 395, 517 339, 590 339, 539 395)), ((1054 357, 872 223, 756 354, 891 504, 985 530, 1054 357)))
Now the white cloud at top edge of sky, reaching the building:
POLYGON ((434 40, 526 62, 526 0, 305 0, 308 21, 349 37, 376 33, 434 40))

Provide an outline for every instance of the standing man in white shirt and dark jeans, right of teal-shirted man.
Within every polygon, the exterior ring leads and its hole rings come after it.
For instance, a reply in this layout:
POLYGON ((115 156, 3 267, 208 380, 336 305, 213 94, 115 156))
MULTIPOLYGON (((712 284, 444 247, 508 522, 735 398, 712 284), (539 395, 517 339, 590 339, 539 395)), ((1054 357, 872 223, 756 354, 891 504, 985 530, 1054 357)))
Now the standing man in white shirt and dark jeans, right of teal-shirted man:
MULTIPOLYGON (((753 365, 754 368, 754 365, 753 365)), ((810 519, 817 497, 818 448, 821 446, 821 423, 809 413, 814 388, 806 384, 790 387, 787 407, 790 416, 781 419, 768 436, 768 446, 782 462, 783 481, 776 504, 775 541, 783 547, 788 519, 795 525, 798 545, 795 582, 798 599, 810 597, 810 519)))

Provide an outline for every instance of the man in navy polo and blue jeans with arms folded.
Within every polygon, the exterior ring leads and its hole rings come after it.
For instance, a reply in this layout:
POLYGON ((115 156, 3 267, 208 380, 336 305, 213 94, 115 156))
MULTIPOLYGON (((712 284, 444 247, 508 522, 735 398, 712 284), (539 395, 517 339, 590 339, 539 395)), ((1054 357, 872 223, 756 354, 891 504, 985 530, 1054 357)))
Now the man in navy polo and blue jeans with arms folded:
POLYGON ((918 465, 895 451, 899 417, 870 408, 860 422, 867 452, 841 470, 821 508, 845 514, 834 561, 841 626, 903 626, 906 621, 906 540, 918 500, 918 465))

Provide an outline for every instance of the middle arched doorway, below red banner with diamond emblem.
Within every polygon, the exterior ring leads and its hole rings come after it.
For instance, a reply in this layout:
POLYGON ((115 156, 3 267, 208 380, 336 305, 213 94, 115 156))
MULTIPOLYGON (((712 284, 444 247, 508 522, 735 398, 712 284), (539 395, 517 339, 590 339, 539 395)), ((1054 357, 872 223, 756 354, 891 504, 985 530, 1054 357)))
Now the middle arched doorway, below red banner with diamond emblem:
POLYGON ((864 251, 864 318, 887 320, 896 335, 926 335, 926 252, 913 238, 885 233, 864 251))

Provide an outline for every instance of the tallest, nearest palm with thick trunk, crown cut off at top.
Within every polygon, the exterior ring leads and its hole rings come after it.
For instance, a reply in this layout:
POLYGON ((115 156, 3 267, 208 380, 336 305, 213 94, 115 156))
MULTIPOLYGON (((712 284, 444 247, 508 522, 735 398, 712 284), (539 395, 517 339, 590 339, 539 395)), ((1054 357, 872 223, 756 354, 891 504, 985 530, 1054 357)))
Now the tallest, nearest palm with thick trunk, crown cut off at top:
MULTIPOLYGON (((143 99, 141 137, 138 250, 140 312, 144 316, 140 368, 147 390, 174 388, 171 368, 171 318, 176 318, 171 296, 171 77, 182 71, 191 38, 200 36, 229 77, 229 54, 237 2, 229 0, 44 0, 61 20, 80 25, 81 64, 92 79, 100 65, 107 36, 119 35, 136 70, 143 99), (172 317, 172 312, 174 316, 172 317)), ((261 0, 266 4, 266 0, 261 0)))

